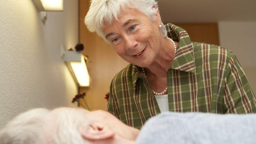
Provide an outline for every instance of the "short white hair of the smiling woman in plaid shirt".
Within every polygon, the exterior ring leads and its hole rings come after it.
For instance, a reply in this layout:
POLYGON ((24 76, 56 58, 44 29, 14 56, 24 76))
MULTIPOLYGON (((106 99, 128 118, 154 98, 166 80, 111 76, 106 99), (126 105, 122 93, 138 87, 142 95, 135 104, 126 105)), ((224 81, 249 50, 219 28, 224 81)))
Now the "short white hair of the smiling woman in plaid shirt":
MULTIPOLYGON (((85 16, 84 23, 88 30, 97 32, 108 44, 110 43, 104 36, 102 29, 104 22, 111 25, 113 18, 118 20, 119 12, 125 8, 137 9, 148 16, 150 20, 156 20, 157 7, 155 0, 91 0, 90 9, 85 16)), ((167 36, 167 30, 163 24, 160 28, 163 35, 167 36)))

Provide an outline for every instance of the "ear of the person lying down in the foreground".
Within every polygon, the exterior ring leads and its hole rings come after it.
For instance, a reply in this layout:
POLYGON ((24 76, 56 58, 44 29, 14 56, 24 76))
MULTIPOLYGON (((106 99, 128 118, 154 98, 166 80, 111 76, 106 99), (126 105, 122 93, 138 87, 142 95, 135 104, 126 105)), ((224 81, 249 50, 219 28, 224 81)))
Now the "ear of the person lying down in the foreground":
POLYGON ((112 130, 100 122, 91 122, 87 128, 81 128, 80 133, 87 140, 105 140, 115 135, 112 130))

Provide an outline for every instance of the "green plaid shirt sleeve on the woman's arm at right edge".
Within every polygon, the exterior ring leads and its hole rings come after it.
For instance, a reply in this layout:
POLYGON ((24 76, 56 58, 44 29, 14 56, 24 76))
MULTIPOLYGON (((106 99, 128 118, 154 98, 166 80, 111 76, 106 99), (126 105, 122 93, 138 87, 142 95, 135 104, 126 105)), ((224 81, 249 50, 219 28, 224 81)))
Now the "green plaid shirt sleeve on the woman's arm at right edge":
POLYGON ((226 67, 223 113, 256 112, 255 95, 234 53, 226 67))

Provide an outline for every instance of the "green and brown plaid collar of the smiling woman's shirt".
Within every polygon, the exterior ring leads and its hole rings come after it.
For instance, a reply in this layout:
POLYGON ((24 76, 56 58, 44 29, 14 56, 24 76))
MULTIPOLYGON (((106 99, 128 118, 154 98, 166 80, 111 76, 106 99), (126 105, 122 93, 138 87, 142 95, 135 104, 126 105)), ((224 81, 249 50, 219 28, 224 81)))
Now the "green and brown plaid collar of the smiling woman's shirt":
MULTIPOLYGON (((173 41, 179 42, 172 66, 170 68, 194 73, 194 48, 188 33, 183 28, 175 26, 171 23, 166 24, 165 28, 167 30, 167 36, 172 38, 173 41)), ((141 68, 139 66, 132 65, 133 85, 135 85, 136 80, 140 75, 143 75, 141 68)))

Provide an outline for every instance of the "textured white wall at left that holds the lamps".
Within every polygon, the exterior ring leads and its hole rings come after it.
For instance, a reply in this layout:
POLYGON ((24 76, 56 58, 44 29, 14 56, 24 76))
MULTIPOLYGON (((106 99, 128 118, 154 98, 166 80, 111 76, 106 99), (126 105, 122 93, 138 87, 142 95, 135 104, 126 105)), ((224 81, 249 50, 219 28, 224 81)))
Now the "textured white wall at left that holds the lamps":
POLYGON ((0 1, 0 128, 30 108, 76 106, 60 45, 78 43, 78 0, 47 16, 44 25, 32 0, 0 1))

